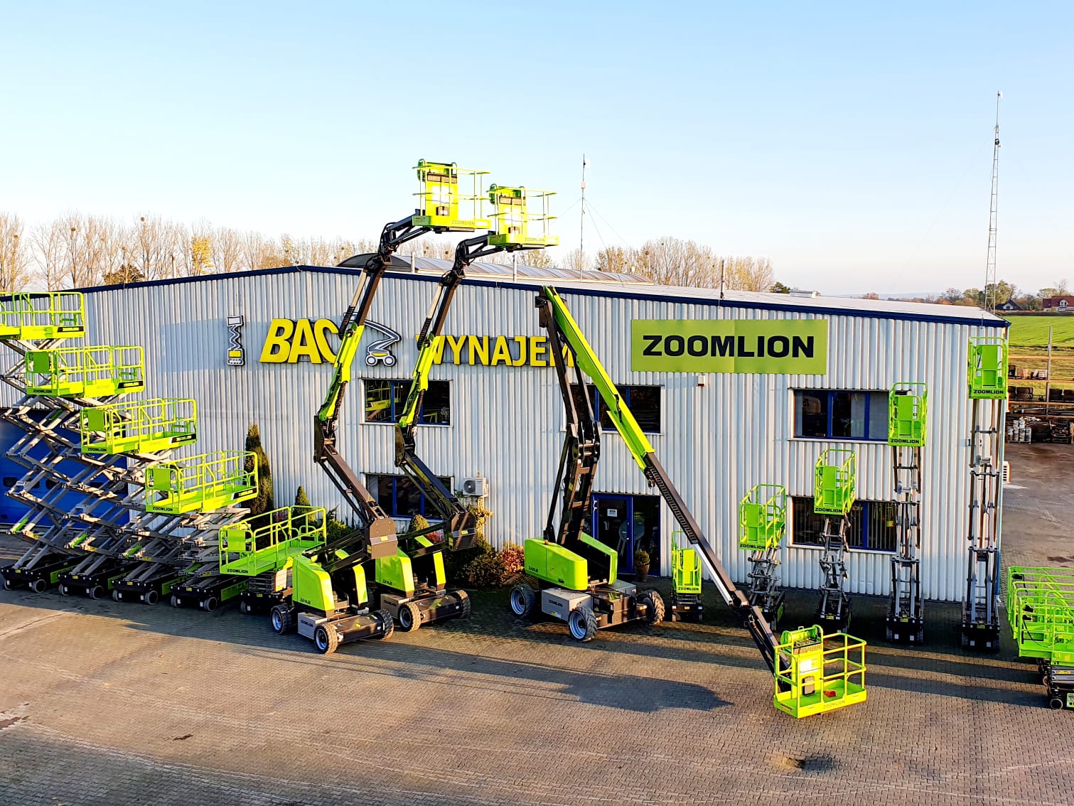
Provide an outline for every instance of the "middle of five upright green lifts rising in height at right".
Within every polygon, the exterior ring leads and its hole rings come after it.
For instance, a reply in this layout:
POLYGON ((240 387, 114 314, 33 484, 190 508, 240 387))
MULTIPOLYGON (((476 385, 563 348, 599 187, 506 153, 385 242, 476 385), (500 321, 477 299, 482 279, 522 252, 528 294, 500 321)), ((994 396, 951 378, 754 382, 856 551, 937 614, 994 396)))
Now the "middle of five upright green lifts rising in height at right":
POLYGON ((854 506, 857 459, 853 450, 828 448, 816 460, 813 477, 813 512, 824 515, 824 545, 821 553, 821 601, 817 622, 829 630, 844 630, 851 623, 851 599, 843 589, 846 580, 846 532, 854 506), (832 522, 836 521, 836 522, 832 522))

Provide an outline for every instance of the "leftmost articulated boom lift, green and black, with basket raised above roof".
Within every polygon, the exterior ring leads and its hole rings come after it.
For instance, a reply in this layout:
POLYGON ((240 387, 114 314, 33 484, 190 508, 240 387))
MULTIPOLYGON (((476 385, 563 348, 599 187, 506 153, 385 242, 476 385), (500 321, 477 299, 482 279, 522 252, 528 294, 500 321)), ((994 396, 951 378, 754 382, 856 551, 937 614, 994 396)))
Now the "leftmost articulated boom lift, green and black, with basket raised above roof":
MULTIPOLYGON (((469 177, 477 190, 484 172, 425 160, 418 162, 417 171, 420 206, 413 215, 387 225, 377 251, 361 263, 362 279, 339 323, 339 350, 332 383, 314 420, 314 459, 351 506, 359 526, 353 532, 295 556, 291 600, 272 610, 273 628, 277 632, 287 632, 296 625, 300 634, 313 638, 317 648, 325 653, 349 641, 391 635, 393 616, 397 614, 383 606, 375 613, 369 611, 371 596, 364 567, 371 560, 397 564, 395 521, 380 507, 336 445, 339 407, 350 383, 351 365, 373 299, 392 255, 407 241, 426 232, 471 232, 490 226, 488 219, 462 219, 459 213, 460 201, 477 198, 461 196, 460 181, 469 177), (297 613, 303 605, 308 610, 297 613)), ((477 205, 475 208, 479 212, 477 205)), ((357 267, 359 262, 350 258, 340 265, 357 267)))

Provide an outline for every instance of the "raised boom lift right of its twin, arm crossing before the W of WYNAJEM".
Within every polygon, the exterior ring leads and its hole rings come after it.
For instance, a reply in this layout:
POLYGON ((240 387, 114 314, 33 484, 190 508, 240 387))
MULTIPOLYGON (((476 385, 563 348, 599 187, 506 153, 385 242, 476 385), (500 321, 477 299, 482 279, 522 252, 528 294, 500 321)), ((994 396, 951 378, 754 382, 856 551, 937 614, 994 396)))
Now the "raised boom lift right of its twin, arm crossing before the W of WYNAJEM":
POLYGON ((553 220, 548 210, 551 196, 549 191, 525 187, 492 185, 489 188, 494 229, 460 242, 451 270, 440 278, 436 298, 418 334, 418 358, 410 389, 395 427, 395 464, 432 504, 442 522, 401 536, 396 556, 377 562, 380 606, 392 614, 403 630, 413 630, 422 623, 451 616, 466 616, 470 606, 465 591, 447 590, 444 551, 459 551, 474 544, 477 517, 418 456, 415 440, 437 342, 466 267, 500 251, 542 249, 560 242, 548 232, 553 220), (540 213, 529 208, 533 202, 541 203, 540 213), (542 225, 539 233, 536 229, 531 231, 531 226, 536 224, 542 225), (430 537, 437 530, 442 531, 442 539, 433 542, 430 537))

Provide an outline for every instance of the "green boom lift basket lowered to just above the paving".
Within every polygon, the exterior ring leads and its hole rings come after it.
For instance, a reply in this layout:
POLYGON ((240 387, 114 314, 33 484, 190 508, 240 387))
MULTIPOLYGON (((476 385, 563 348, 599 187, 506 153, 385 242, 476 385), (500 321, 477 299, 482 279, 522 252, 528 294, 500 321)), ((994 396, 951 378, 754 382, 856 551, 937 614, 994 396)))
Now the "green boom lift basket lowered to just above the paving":
POLYGON ((866 700, 866 643, 819 627, 784 630, 772 704, 797 719, 866 700))

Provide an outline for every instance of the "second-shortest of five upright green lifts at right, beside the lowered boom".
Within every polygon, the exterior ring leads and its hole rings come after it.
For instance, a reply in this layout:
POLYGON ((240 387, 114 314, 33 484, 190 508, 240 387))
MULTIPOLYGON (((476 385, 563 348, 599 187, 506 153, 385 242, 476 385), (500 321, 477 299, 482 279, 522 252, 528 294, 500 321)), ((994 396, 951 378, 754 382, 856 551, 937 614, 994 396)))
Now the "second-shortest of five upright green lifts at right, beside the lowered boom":
POLYGON ((739 502, 739 548, 750 552, 750 604, 760 608, 772 630, 783 618, 784 593, 777 567, 787 531, 787 488, 754 485, 739 502))

